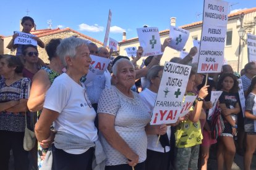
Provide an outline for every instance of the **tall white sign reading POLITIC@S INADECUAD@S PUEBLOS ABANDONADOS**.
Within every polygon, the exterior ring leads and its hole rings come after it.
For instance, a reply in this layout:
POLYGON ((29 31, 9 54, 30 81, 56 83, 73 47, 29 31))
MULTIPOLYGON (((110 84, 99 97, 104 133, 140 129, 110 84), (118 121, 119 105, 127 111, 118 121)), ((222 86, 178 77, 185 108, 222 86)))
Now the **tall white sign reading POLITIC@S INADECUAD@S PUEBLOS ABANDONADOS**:
POLYGON ((228 23, 228 2, 205 0, 197 73, 220 73, 228 23))

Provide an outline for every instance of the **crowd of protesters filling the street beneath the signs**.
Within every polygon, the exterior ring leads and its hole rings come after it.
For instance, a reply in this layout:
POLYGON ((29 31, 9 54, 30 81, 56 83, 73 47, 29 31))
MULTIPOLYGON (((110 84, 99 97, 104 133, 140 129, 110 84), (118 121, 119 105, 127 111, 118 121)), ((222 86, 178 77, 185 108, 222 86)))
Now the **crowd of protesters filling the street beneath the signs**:
MULTIPOLYGON (((23 17, 24 33, 30 33, 33 18, 23 17)), ((117 56, 102 75, 85 83, 92 59, 109 58, 111 51, 93 42, 70 37, 45 44, 49 64, 38 57, 36 46, 14 44, 17 54, 0 55, 0 169, 207 169, 210 148, 215 147, 218 169, 231 169, 235 153, 244 154, 244 169, 250 169, 256 149, 256 64, 249 62, 241 75, 230 65, 209 76, 197 73, 192 57, 197 48, 170 62, 190 65, 187 95, 197 99, 187 115, 174 124, 150 125, 151 113, 163 75, 161 55, 148 57, 139 67, 137 56, 117 56), (245 94, 244 115, 238 95, 241 78, 245 94), (205 83, 207 81, 207 83, 205 83), (223 131, 213 137, 208 111, 211 91, 222 91, 217 102, 223 131), (27 126, 36 134, 36 144, 23 148, 27 126), (160 141, 158 145, 158 140, 160 141), (236 144, 236 145, 235 145, 236 144), (243 153, 244 152, 244 153, 243 153), (29 159, 28 159, 29 158, 29 159)), ((168 46, 166 38, 162 51, 168 46)))

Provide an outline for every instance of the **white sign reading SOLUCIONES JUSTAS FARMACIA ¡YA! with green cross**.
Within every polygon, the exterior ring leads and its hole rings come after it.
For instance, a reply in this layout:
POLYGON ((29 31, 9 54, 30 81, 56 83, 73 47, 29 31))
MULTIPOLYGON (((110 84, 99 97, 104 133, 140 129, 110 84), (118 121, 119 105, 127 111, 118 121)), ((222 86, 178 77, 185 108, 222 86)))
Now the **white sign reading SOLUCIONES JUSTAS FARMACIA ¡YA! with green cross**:
POLYGON ((176 123, 191 67, 165 62, 150 124, 176 123))

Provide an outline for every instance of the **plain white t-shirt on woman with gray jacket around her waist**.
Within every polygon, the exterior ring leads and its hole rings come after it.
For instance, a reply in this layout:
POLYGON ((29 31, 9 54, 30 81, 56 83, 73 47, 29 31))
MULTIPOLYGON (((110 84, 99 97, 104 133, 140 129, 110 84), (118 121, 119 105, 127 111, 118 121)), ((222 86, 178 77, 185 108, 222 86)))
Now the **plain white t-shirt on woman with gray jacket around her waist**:
MULTIPOLYGON (((66 73, 54 79, 53 84, 46 93, 44 108, 59 113, 54 121, 56 131, 73 134, 83 139, 95 142, 98 139, 94 124, 95 110, 90 107, 85 87, 75 83, 66 73)), ((71 154, 81 154, 85 149, 64 150, 71 154)))

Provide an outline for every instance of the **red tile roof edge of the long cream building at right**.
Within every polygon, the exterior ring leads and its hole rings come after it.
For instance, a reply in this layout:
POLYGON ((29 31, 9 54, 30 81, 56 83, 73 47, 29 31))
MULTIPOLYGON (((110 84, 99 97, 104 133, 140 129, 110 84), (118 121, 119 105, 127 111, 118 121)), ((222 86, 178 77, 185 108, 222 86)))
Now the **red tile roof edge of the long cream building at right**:
MULTIPOLYGON (((251 12, 256 12, 256 7, 253 7, 253 8, 250 8, 250 9, 239 10, 239 11, 237 11, 237 12, 234 12, 234 13, 232 13, 232 14, 229 14, 229 15, 228 15, 228 18, 230 19, 230 18, 233 18, 233 17, 237 17, 238 15, 240 15, 240 14, 242 14, 242 13, 244 13, 244 15, 245 15, 245 14, 249 14, 249 13, 251 13, 251 12)), ((179 26, 179 28, 185 29, 185 28, 189 28, 189 27, 191 27, 191 26, 202 25, 202 23, 203 23, 202 21, 194 22, 194 23, 189 23, 189 24, 187 24, 187 25, 179 26)), ((160 33, 160 34, 169 33, 169 29, 168 29, 168 30, 159 31, 159 33, 160 33)), ((119 44, 124 44, 124 43, 126 43, 126 42, 135 41, 135 40, 138 40, 138 39, 139 39, 139 38, 137 38, 137 37, 136 37, 136 38, 127 39, 127 40, 125 40, 125 41, 119 42, 119 44)))

